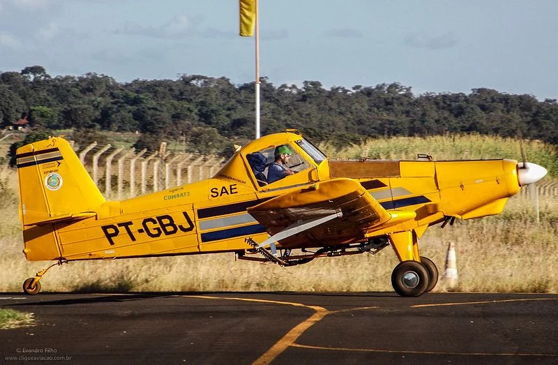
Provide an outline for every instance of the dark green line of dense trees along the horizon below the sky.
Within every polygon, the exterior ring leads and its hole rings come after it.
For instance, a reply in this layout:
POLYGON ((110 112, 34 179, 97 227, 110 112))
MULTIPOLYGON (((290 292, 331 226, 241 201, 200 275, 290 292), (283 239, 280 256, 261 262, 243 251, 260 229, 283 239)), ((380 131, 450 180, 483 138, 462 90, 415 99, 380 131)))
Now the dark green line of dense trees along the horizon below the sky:
MULTIPOLYGON (((100 132, 140 132, 135 147, 183 142, 204 153, 228 151, 254 135, 254 82, 181 75, 116 82, 107 75, 51 77, 42 66, 0 74, 0 127, 24 117, 34 131, 73 129, 77 142, 100 132)), ((494 89, 414 95, 396 82, 324 88, 261 82, 262 134, 296 128, 315 143, 358 143, 379 136, 481 133, 558 144, 558 103, 494 89)))

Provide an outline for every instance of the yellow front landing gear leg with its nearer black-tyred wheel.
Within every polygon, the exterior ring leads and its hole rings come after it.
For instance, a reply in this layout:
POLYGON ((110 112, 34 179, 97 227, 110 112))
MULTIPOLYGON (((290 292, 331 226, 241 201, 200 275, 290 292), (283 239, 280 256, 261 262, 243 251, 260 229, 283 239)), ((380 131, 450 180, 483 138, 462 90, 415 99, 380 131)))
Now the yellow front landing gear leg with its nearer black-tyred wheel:
POLYGON ((423 295, 428 288, 430 278, 427 268, 421 264, 416 233, 412 230, 396 232, 390 234, 388 238, 395 255, 400 260, 391 274, 393 290, 402 297, 423 295))

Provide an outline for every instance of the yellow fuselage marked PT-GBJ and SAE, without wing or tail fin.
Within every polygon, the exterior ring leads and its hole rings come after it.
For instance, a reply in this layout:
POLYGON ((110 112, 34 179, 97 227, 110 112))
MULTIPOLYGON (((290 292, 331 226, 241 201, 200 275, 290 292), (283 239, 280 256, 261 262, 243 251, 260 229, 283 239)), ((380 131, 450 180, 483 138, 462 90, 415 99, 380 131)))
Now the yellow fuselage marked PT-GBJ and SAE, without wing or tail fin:
POLYGON ((24 252, 28 260, 91 260, 242 251, 248 248, 248 237, 264 241, 273 233, 246 209, 340 177, 359 181, 387 211, 413 212, 413 218, 365 232, 333 232, 326 225, 319 240, 296 236, 280 241, 279 246, 346 244, 405 230, 420 236, 425 228, 447 217, 498 214, 507 198, 520 191, 517 162, 512 160, 330 160, 301 135, 278 133, 236 151, 211 179, 121 202, 105 201, 88 218, 24 223, 24 252), (266 151, 281 144, 288 144, 299 156, 301 167, 273 184, 258 183, 247 156, 269 154, 266 151))

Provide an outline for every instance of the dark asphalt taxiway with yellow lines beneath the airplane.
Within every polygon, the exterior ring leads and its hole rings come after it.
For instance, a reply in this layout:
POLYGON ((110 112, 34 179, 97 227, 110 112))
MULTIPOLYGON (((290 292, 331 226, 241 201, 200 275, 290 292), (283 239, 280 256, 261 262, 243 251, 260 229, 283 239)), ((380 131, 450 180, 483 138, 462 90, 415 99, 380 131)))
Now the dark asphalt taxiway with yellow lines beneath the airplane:
POLYGON ((558 295, 0 295, 3 364, 558 364, 558 295))

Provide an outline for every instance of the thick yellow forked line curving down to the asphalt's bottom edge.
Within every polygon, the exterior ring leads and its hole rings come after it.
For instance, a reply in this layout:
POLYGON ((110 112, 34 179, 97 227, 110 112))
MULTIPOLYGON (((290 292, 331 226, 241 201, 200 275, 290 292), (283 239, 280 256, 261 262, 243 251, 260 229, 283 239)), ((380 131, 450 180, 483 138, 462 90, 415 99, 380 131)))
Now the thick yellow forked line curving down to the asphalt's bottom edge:
POLYGON ((234 298, 234 297, 209 297, 206 295, 185 295, 185 297, 190 298, 200 298, 200 299, 225 299, 225 300, 240 300, 240 301, 255 301, 259 303, 271 303, 271 304, 282 304, 282 305, 289 305, 289 306, 301 306, 304 308, 310 308, 316 311, 316 313, 312 314, 310 318, 307 320, 299 323, 293 327, 285 336, 275 343, 275 345, 271 346, 269 350, 267 350, 264 355, 260 356, 253 364, 269 364, 276 359, 279 355, 282 354, 289 346, 295 345, 294 341, 296 338, 299 338, 307 329, 315 325, 317 322, 322 320, 326 315, 333 314, 333 313, 342 313, 348 311, 361 311, 365 309, 373 309, 378 308, 377 306, 368 306, 368 307, 361 307, 361 308, 351 308, 351 309, 344 309, 341 311, 328 311, 326 308, 321 306, 307 306, 306 304, 296 303, 292 301, 276 301, 276 300, 266 300, 266 299, 248 299, 248 298, 234 298))

